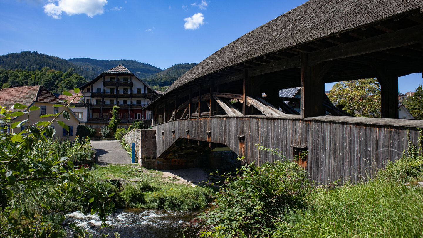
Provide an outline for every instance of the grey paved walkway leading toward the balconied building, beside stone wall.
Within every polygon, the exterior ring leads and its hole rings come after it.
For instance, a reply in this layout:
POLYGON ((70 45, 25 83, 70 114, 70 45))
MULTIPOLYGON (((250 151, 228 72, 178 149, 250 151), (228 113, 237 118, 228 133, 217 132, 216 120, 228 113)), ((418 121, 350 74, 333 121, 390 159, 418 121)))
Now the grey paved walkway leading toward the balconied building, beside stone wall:
POLYGON ((100 166, 131 163, 128 152, 121 147, 119 141, 91 141, 91 145, 97 151, 100 166))

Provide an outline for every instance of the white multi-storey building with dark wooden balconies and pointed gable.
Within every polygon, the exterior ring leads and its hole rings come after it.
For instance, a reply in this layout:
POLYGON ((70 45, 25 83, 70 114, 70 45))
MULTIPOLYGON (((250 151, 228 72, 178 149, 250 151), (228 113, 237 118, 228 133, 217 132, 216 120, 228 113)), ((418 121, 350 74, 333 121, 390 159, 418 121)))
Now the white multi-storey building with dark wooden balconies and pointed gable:
POLYGON ((118 127, 127 129, 134 121, 143 121, 145 127, 150 126, 151 111, 143 109, 159 97, 156 91, 123 65, 102 72, 82 85, 80 90, 82 102, 75 105, 86 110, 82 110, 82 122, 98 132, 109 123, 113 105, 119 106, 121 124, 118 127))

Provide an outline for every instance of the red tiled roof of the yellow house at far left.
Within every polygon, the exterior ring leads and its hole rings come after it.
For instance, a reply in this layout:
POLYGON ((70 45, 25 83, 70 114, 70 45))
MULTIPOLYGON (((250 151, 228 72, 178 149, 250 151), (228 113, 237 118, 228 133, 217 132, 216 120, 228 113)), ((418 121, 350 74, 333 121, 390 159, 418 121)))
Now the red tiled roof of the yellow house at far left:
MULTIPOLYGON (((60 99, 47 91, 42 85, 22 86, 0 90, 0 105, 6 107, 6 109, 9 109, 15 103, 29 106, 33 102, 57 103, 58 101, 60 101, 60 99)), ((11 111, 18 110, 12 109, 11 111)))

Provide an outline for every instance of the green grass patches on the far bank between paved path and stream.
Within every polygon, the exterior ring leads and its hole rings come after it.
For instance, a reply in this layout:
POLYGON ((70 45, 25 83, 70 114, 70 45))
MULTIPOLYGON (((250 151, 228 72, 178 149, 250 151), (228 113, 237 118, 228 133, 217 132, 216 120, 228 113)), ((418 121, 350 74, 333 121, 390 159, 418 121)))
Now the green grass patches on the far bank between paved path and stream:
POLYGON ((131 165, 93 166, 91 174, 97 179, 141 180, 124 186, 124 190, 115 199, 118 207, 197 210, 208 205, 215 191, 215 188, 207 185, 192 188, 191 185, 172 183, 163 179, 161 171, 150 169, 147 174, 131 165))

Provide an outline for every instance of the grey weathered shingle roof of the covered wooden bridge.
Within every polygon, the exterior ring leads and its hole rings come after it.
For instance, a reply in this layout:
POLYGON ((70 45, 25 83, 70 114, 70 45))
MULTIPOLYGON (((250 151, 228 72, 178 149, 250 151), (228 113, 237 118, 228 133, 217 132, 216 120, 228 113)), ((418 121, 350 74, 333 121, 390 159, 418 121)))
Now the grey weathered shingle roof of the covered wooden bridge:
POLYGON ((421 0, 310 0, 226 45, 165 92, 226 67, 420 8, 421 0))

